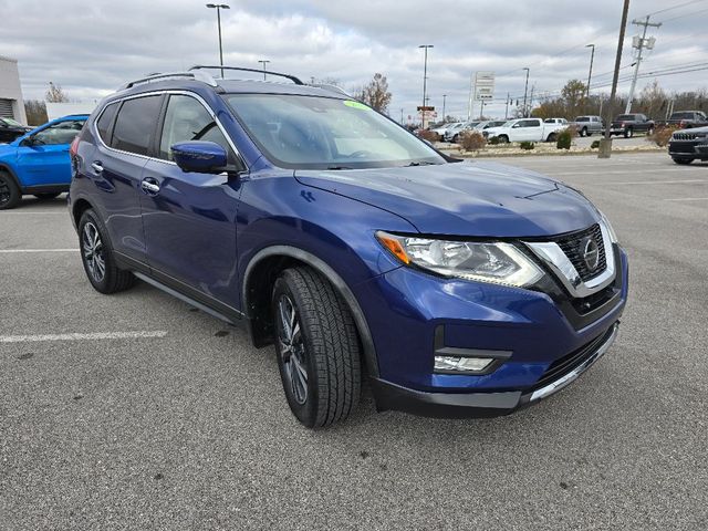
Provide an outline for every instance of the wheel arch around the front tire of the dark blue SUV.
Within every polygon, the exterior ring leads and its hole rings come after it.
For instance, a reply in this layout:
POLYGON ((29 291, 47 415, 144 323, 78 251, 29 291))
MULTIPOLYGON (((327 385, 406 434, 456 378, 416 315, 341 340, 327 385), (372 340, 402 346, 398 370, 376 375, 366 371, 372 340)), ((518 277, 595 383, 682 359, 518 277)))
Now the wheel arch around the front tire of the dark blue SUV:
POLYGON ((299 264, 308 266, 317 271, 332 283, 335 291, 342 296, 356 324, 366 369, 371 376, 378 377, 378 360, 374 340, 354 293, 331 266, 311 252, 296 247, 267 247, 256 253, 246 267, 241 283, 241 301, 253 344, 260 347, 272 343, 270 290, 281 271, 299 264))

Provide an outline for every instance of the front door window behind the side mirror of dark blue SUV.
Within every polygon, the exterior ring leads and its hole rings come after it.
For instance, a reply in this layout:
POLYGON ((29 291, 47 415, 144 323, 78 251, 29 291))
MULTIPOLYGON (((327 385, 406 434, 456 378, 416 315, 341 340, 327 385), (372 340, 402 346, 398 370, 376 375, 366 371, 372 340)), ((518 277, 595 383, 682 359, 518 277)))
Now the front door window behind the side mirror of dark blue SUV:
POLYGON ((215 142, 229 154, 229 162, 235 162, 229 143, 204 105, 191 96, 171 95, 165 113, 159 158, 171 160, 170 147, 185 140, 215 142))

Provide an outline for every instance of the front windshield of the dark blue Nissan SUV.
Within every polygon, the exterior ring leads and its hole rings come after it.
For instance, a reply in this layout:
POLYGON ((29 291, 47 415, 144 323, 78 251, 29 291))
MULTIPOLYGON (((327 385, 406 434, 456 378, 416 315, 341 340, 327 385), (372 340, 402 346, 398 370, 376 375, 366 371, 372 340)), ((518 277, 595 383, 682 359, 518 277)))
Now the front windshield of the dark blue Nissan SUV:
POLYGON ((227 94, 248 134, 278 166, 356 169, 445 159, 363 103, 289 94, 227 94))

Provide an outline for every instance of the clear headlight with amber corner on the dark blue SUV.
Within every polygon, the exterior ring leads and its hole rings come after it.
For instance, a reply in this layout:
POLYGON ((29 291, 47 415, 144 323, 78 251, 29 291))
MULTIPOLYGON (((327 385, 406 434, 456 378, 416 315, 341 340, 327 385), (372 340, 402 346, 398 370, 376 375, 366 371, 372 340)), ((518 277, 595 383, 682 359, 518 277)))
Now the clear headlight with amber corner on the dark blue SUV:
POLYGON ((522 288, 543 277, 543 271, 507 242, 434 240, 376 232, 396 258, 444 277, 522 288))

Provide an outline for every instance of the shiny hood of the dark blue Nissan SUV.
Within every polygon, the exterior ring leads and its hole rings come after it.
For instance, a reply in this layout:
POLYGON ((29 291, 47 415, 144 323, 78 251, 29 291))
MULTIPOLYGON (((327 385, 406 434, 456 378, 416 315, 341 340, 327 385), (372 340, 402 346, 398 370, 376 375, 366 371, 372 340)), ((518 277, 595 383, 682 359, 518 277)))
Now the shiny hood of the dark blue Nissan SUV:
POLYGON ((543 237, 581 230, 600 218, 574 189, 497 163, 299 169, 295 178, 305 186, 394 212, 427 235, 543 237))

